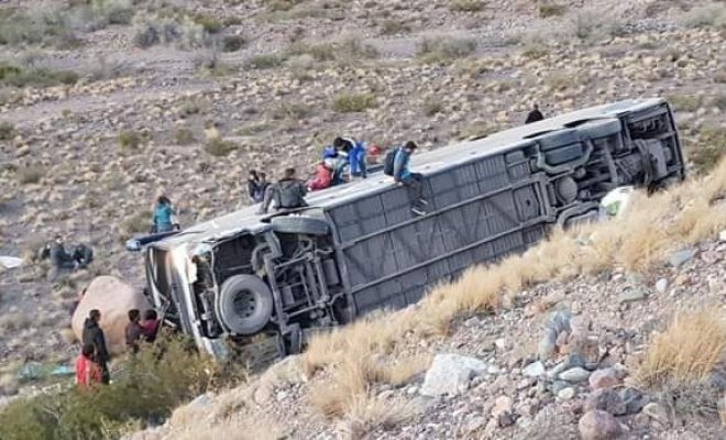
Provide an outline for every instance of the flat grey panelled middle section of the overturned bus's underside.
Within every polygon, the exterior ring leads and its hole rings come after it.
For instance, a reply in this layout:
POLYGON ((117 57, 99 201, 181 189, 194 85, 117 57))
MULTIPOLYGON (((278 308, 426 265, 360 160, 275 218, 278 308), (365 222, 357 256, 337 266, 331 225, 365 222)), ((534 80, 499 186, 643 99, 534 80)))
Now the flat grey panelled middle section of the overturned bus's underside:
POLYGON ((472 264, 539 240, 548 212, 544 180, 525 173, 522 157, 481 157, 427 176, 425 217, 413 215, 405 187, 331 209, 358 312, 417 302, 427 288, 472 264), (355 221, 359 205, 380 209, 355 221))

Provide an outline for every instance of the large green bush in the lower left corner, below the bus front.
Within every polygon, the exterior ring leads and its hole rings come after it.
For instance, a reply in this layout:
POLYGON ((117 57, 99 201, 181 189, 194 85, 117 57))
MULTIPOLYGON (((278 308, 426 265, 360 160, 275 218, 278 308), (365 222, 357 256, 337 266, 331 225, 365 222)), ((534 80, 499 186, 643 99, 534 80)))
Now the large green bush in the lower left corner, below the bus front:
POLYGON ((206 392, 213 371, 210 361, 182 338, 161 339, 119 364, 122 373, 113 377, 112 385, 85 393, 65 389, 8 404, 0 411, 0 438, 118 438, 132 420, 164 419, 177 405, 206 392))

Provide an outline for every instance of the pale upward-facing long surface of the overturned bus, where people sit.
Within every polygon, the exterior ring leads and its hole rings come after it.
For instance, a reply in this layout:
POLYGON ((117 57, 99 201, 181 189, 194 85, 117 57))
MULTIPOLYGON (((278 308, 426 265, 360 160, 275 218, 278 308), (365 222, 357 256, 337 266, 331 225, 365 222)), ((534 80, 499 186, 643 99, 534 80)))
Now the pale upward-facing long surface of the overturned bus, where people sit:
MULTIPOLYGON (((627 111, 639 111, 664 102, 661 98, 629 99, 614 103, 590 107, 546 119, 531 124, 516 127, 491 134, 474 141, 462 141, 440 148, 422 152, 411 156, 411 169, 424 175, 436 173, 442 168, 451 167, 473 158, 514 150, 524 144, 531 143, 530 138, 538 134, 566 129, 575 122, 614 118, 627 111)), ((348 202, 371 193, 381 191, 393 185, 393 178, 376 172, 369 174, 366 179, 352 182, 320 191, 315 191, 306 197, 310 207, 332 207, 348 202)), ((238 235, 244 231, 256 232, 268 228, 268 223, 261 221, 264 216, 256 215, 258 206, 249 206, 238 211, 228 213, 195 224, 185 229, 176 235, 172 235, 154 244, 158 248, 174 248, 183 243, 200 243, 217 241, 220 239, 238 235)))

